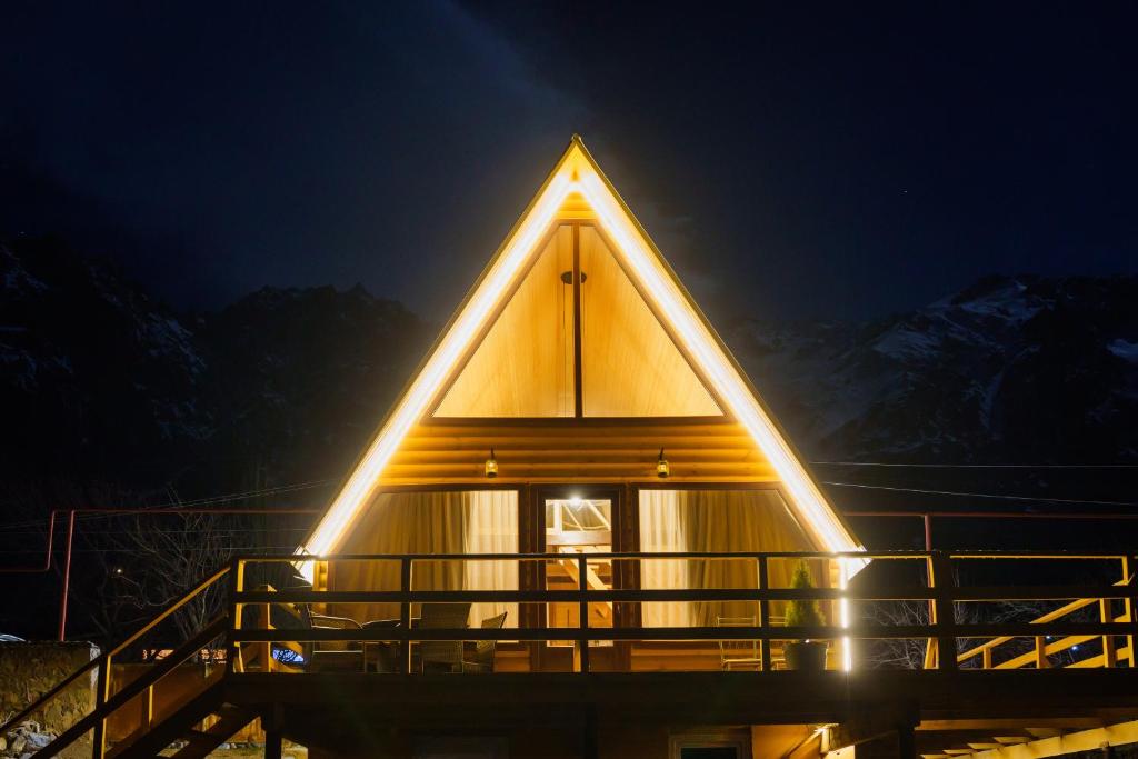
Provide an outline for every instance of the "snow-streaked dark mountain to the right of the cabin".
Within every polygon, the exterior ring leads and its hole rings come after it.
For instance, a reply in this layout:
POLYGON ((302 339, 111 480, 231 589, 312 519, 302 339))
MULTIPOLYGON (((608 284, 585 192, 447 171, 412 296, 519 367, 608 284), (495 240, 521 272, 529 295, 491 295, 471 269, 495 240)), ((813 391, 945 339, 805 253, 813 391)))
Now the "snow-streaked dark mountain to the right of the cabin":
POLYGON ((1138 459, 1138 278, 992 277, 866 324, 727 337, 811 456, 1138 459))

